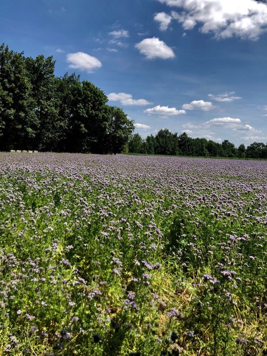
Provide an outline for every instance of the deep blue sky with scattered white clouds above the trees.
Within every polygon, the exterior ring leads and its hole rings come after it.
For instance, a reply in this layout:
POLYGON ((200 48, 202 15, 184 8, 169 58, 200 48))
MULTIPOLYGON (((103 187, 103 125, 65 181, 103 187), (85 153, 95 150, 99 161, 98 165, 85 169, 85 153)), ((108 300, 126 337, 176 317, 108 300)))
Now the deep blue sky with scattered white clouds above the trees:
POLYGON ((267 141, 266 1, 2 0, 0 33, 92 81, 142 137, 267 141))

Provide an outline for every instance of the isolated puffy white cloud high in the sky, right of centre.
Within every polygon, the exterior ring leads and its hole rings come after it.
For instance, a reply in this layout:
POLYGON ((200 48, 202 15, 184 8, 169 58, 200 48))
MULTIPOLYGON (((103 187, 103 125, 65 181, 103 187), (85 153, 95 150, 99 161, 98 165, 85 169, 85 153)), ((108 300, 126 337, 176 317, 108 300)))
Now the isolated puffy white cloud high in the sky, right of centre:
POLYGON ((167 58, 175 57, 173 50, 157 37, 145 38, 136 43, 135 47, 139 49, 141 54, 145 55, 147 60, 153 60, 154 58, 166 60, 167 58))

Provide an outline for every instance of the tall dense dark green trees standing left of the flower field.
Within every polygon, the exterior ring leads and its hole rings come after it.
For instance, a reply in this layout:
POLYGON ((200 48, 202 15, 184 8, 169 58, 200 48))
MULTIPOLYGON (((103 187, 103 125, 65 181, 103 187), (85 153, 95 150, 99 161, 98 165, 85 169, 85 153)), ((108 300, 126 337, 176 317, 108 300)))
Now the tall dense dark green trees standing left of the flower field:
POLYGON ((121 152, 134 130, 121 108, 55 61, 0 46, 0 151, 121 152))

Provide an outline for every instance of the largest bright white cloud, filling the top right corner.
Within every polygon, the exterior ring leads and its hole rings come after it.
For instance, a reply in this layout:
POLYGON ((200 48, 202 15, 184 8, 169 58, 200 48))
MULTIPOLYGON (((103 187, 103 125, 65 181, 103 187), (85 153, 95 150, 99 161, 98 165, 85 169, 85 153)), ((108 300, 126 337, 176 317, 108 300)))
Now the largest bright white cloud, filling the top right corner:
POLYGON ((255 0, 158 0, 162 4, 181 8, 171 11, 171 17, 185 29, 200 24, 202 33, 216 38, 257 39, 267 30, 267 4, 255 0))

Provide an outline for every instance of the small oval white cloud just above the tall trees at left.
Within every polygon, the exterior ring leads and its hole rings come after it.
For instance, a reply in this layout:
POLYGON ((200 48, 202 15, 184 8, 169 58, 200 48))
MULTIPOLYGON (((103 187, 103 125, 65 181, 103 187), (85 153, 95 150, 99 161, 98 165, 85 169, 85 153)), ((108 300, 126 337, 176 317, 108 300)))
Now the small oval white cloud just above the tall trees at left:
POLYGON ((67 62, 70 68, 80 69, 87 73, 92 73, 94 69, 102 67, 102 63, 96 57, 84 52, 68 53, 67 62))

